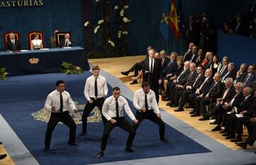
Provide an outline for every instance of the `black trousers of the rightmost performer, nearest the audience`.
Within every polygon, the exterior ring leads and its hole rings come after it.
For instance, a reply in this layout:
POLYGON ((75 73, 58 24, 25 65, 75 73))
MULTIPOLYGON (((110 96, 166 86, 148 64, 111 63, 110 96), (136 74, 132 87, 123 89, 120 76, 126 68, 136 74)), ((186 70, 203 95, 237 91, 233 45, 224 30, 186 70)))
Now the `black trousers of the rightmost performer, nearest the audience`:
POLYGON ((145 113, 140 113, 139 111, 137 111, 135 118, 137 118, 139 123, 133 125, 134 130, 138 129, 139 124, 142 122, 142 120, 148 119, 148 120, 151 120, 152 122, 156 123, 157 125, 159 125, 160 138, 164 139, 165 123, 163 120, 161 120, 161 118, 157 118, 157 115, 156 115, 156 113, 154 113, 153 110, 146 110, 145 113))

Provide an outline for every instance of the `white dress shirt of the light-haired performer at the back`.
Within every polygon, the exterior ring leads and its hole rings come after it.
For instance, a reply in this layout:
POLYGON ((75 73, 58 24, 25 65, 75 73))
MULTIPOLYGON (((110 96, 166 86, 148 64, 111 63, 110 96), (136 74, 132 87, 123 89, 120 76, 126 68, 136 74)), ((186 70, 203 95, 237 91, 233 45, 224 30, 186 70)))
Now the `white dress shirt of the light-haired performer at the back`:
MULTIPOLYGON (((97 98, 102 98, 103 95, 107 96, 107 80, 104 76, 97 76, 97 98)), ((87 101, 90 101, 90 98, 96 98, 95 97, 95 76, 90 76, 86 79, 85 82, 85 98, 87 101)))

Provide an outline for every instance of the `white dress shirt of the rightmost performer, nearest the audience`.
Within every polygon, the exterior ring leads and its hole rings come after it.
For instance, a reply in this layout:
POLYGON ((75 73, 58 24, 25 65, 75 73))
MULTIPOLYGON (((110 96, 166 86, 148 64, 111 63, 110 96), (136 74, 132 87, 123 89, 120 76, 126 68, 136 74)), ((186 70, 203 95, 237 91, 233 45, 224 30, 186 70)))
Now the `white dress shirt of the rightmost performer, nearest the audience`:
MULTIPOLYGON (((149 93, 146 94, 146 99, 148 103, 148 109, 149 110, 154 110, 154 113, 158 114, 160 113, 159 107, 156 103, 156 95, 154 91, 149 89, 149 93)), ((138 89, 134 93, 134 107, 140 112, 142 107, 145 107, 145 92, 143 89, 138 89)))

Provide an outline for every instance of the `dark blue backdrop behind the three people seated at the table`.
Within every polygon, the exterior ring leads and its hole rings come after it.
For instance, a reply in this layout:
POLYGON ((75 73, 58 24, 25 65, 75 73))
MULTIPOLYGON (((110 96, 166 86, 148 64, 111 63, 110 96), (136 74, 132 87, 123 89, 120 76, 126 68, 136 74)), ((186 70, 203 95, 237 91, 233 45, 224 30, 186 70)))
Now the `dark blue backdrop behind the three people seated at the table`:
POLYGON ((45 45, 50 47, 54 29, 70 31, 75 45, 83 47, 83 3, 83 0, 43 0, 43 6, 0 8, 0 49, 4 50, 3 33, 11 30, 21 34, 23 49, 28 49, 27 34, 31 30, 43 31, 45 45))

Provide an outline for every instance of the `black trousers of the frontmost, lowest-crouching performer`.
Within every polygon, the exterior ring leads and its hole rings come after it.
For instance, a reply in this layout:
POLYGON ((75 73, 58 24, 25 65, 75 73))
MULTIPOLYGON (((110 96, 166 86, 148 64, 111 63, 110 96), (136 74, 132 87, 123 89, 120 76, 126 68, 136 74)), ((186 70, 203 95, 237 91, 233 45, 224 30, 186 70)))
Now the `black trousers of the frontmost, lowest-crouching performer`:
POLYGON ((114 127, 121 127, 123 130, 129 132, 129 136, 127 138, 127 148, 132 147, 132 141, 134 140, 134 137, 136 135, 136 131, 133 129, 132 125, 130 125, 127 120, 125 120, 124 117, 122 118, 113 118, 114 120, 117 120, 117 123, 110 123, 110 121, 107 121, 103 135, 102 135, 102 142, 101 142, 101 150, 104 151, 107 147, 107 137, 109 137, 110 132, 113 130, 114 127))

